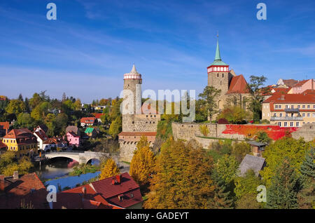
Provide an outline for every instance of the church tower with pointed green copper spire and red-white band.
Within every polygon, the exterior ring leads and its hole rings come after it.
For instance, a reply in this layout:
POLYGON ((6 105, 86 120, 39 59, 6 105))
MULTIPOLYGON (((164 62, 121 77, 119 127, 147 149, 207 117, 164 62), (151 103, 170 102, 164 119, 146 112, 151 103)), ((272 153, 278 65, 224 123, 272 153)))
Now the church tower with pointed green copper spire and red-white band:
POLYGON ((229 90, 232 74, 229 71, 229 65, 221 60, 218 40, 216 42, 216 57, 214 62, 207 67, 208 69, 208 86, 221 89, 221 95, 218 96, 218 109, 223 109, 225 104, 225 94, 229 90))

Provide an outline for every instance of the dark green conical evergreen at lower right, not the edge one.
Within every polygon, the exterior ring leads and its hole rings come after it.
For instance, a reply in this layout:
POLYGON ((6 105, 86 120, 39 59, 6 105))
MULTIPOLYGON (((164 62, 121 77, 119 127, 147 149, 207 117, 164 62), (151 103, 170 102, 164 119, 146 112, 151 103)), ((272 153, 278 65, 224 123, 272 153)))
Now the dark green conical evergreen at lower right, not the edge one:
POLYGON ((290 165, 288 158, 284 158, 276 168, 271 186, 267 189, 266 208, 292 209, 297 208, 297 193, 300 191, 300 180, 290 165))

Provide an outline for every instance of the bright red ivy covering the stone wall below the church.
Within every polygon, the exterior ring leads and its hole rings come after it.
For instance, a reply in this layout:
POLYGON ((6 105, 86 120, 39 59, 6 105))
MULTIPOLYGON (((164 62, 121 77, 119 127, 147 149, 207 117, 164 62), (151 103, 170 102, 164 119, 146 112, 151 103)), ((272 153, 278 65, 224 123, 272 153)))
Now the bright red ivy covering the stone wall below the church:
POLYGON ((280 126, 255 126, 255 125, 225 125, 223 134, 239 134, 253 137, 259 131, 264 131, 272 140, 279 140, 288 133, 295 132, 298 128, 283 128, 280 126))

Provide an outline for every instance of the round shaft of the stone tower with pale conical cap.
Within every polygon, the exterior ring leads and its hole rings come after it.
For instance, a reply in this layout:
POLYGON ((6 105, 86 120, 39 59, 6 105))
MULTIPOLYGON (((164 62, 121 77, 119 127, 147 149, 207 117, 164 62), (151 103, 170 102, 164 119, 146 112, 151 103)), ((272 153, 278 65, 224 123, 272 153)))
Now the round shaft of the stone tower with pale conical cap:
POLYGON ((141 114, 141 74, 136 67, 130 73, 124 74, 123 132, 134 132, 135 114, 141 114))

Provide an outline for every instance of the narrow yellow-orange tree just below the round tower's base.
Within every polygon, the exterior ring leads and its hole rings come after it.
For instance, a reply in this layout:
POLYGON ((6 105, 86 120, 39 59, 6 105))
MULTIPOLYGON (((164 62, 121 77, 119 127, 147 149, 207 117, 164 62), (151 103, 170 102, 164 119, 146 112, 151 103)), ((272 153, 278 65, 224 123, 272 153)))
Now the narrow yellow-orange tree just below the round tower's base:
POLYGON ((149 147, 148 140, 142 136, 137 144, 137 150, 130 163, 130 175, 138 184, 147 184, 153 173, 155 156, 149 147))

